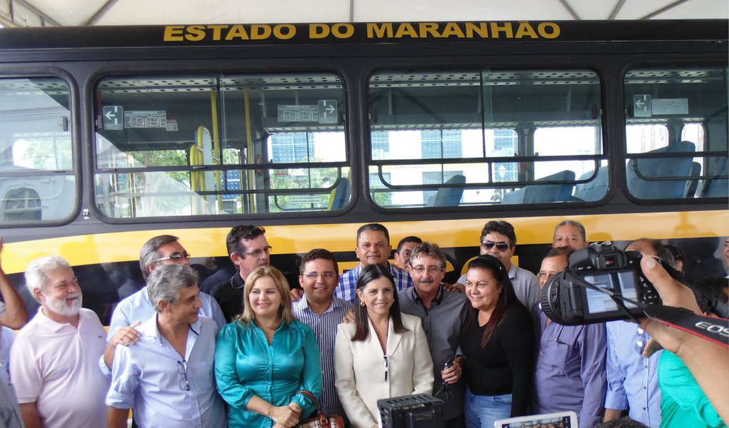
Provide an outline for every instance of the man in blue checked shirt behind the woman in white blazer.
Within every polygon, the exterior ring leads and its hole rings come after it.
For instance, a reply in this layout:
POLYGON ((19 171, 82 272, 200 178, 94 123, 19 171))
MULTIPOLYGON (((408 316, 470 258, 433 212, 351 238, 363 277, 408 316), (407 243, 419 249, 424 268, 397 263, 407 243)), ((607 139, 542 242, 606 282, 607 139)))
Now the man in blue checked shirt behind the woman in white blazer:
POLYGON ((354 303, 357 288, 357 278, 362 273, 362 269, 371 264, 379 264, 389 269, 395 280, 397 290, 405 290, 413 286, 413 280, 410 274, 391 265, 388 261, 392 246, 390 245, 390 233, 387 228, 380 223, 368 223, 357 229, 357 245, 354 248, 359 265, 354 269, 345 272, 339 280, 339 286, 335 292, 338 298, 343 301, 354 303))

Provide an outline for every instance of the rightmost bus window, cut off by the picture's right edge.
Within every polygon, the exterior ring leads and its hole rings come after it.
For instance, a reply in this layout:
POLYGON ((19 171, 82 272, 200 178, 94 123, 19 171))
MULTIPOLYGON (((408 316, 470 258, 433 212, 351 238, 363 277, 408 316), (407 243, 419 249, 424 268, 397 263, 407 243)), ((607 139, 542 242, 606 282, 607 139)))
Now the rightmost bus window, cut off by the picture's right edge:
POLYGON ((625 74, 625 174, 632 196, 728 196, 726 75, 726 68, 625 74))

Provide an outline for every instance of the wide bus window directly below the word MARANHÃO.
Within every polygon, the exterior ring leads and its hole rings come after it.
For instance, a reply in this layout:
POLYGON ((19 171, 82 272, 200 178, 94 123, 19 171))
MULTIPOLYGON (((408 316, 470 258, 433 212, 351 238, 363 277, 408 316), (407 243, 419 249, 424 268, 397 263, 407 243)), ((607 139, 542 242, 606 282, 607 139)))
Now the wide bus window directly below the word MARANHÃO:
POLYGON ((383 72, 368 100, 380 207, 570 202, 603 178, 590 200, 607 191, 593 71, 383 72))

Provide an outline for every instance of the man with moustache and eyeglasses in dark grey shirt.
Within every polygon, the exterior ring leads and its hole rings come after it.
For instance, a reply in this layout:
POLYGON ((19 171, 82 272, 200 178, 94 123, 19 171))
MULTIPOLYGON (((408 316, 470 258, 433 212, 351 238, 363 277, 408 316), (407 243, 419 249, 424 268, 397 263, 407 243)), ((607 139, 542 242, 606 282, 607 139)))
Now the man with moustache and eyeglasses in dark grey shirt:
POLYGON ((400 311, 419 317, 433 360, 433 391, 443 400, 445 428, 465 424, 464 383, 461 381, 463 355, 459 349, 461 325, 466 322, 470 302, 464 293, 446 291, 445 254, 437 244, 423 242, 410 253, 413 287, 398 293, 400 311), (448 361, 451 368, 445 369, 448 361), (447 386, 446 386, 447 385, 447 386))

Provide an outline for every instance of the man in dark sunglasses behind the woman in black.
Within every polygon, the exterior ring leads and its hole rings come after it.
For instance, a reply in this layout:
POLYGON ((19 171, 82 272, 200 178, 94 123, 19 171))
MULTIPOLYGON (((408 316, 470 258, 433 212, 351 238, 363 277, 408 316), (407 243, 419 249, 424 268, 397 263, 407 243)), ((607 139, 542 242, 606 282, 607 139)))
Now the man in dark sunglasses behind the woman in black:
MULTIPOLYGON (((509 272, 509 279, 514 286, 516 297, 527 309, 539 301, 539 281, 537 277, 526 269, 511 263, 512 255, 516 250, 516 233, 514 226, 507 221, 489 221, 481 230, 481 254, 493 255, 504 264, 509 272)), ((463 274, 459 284, 466 283, 466 274, 463 274)))

